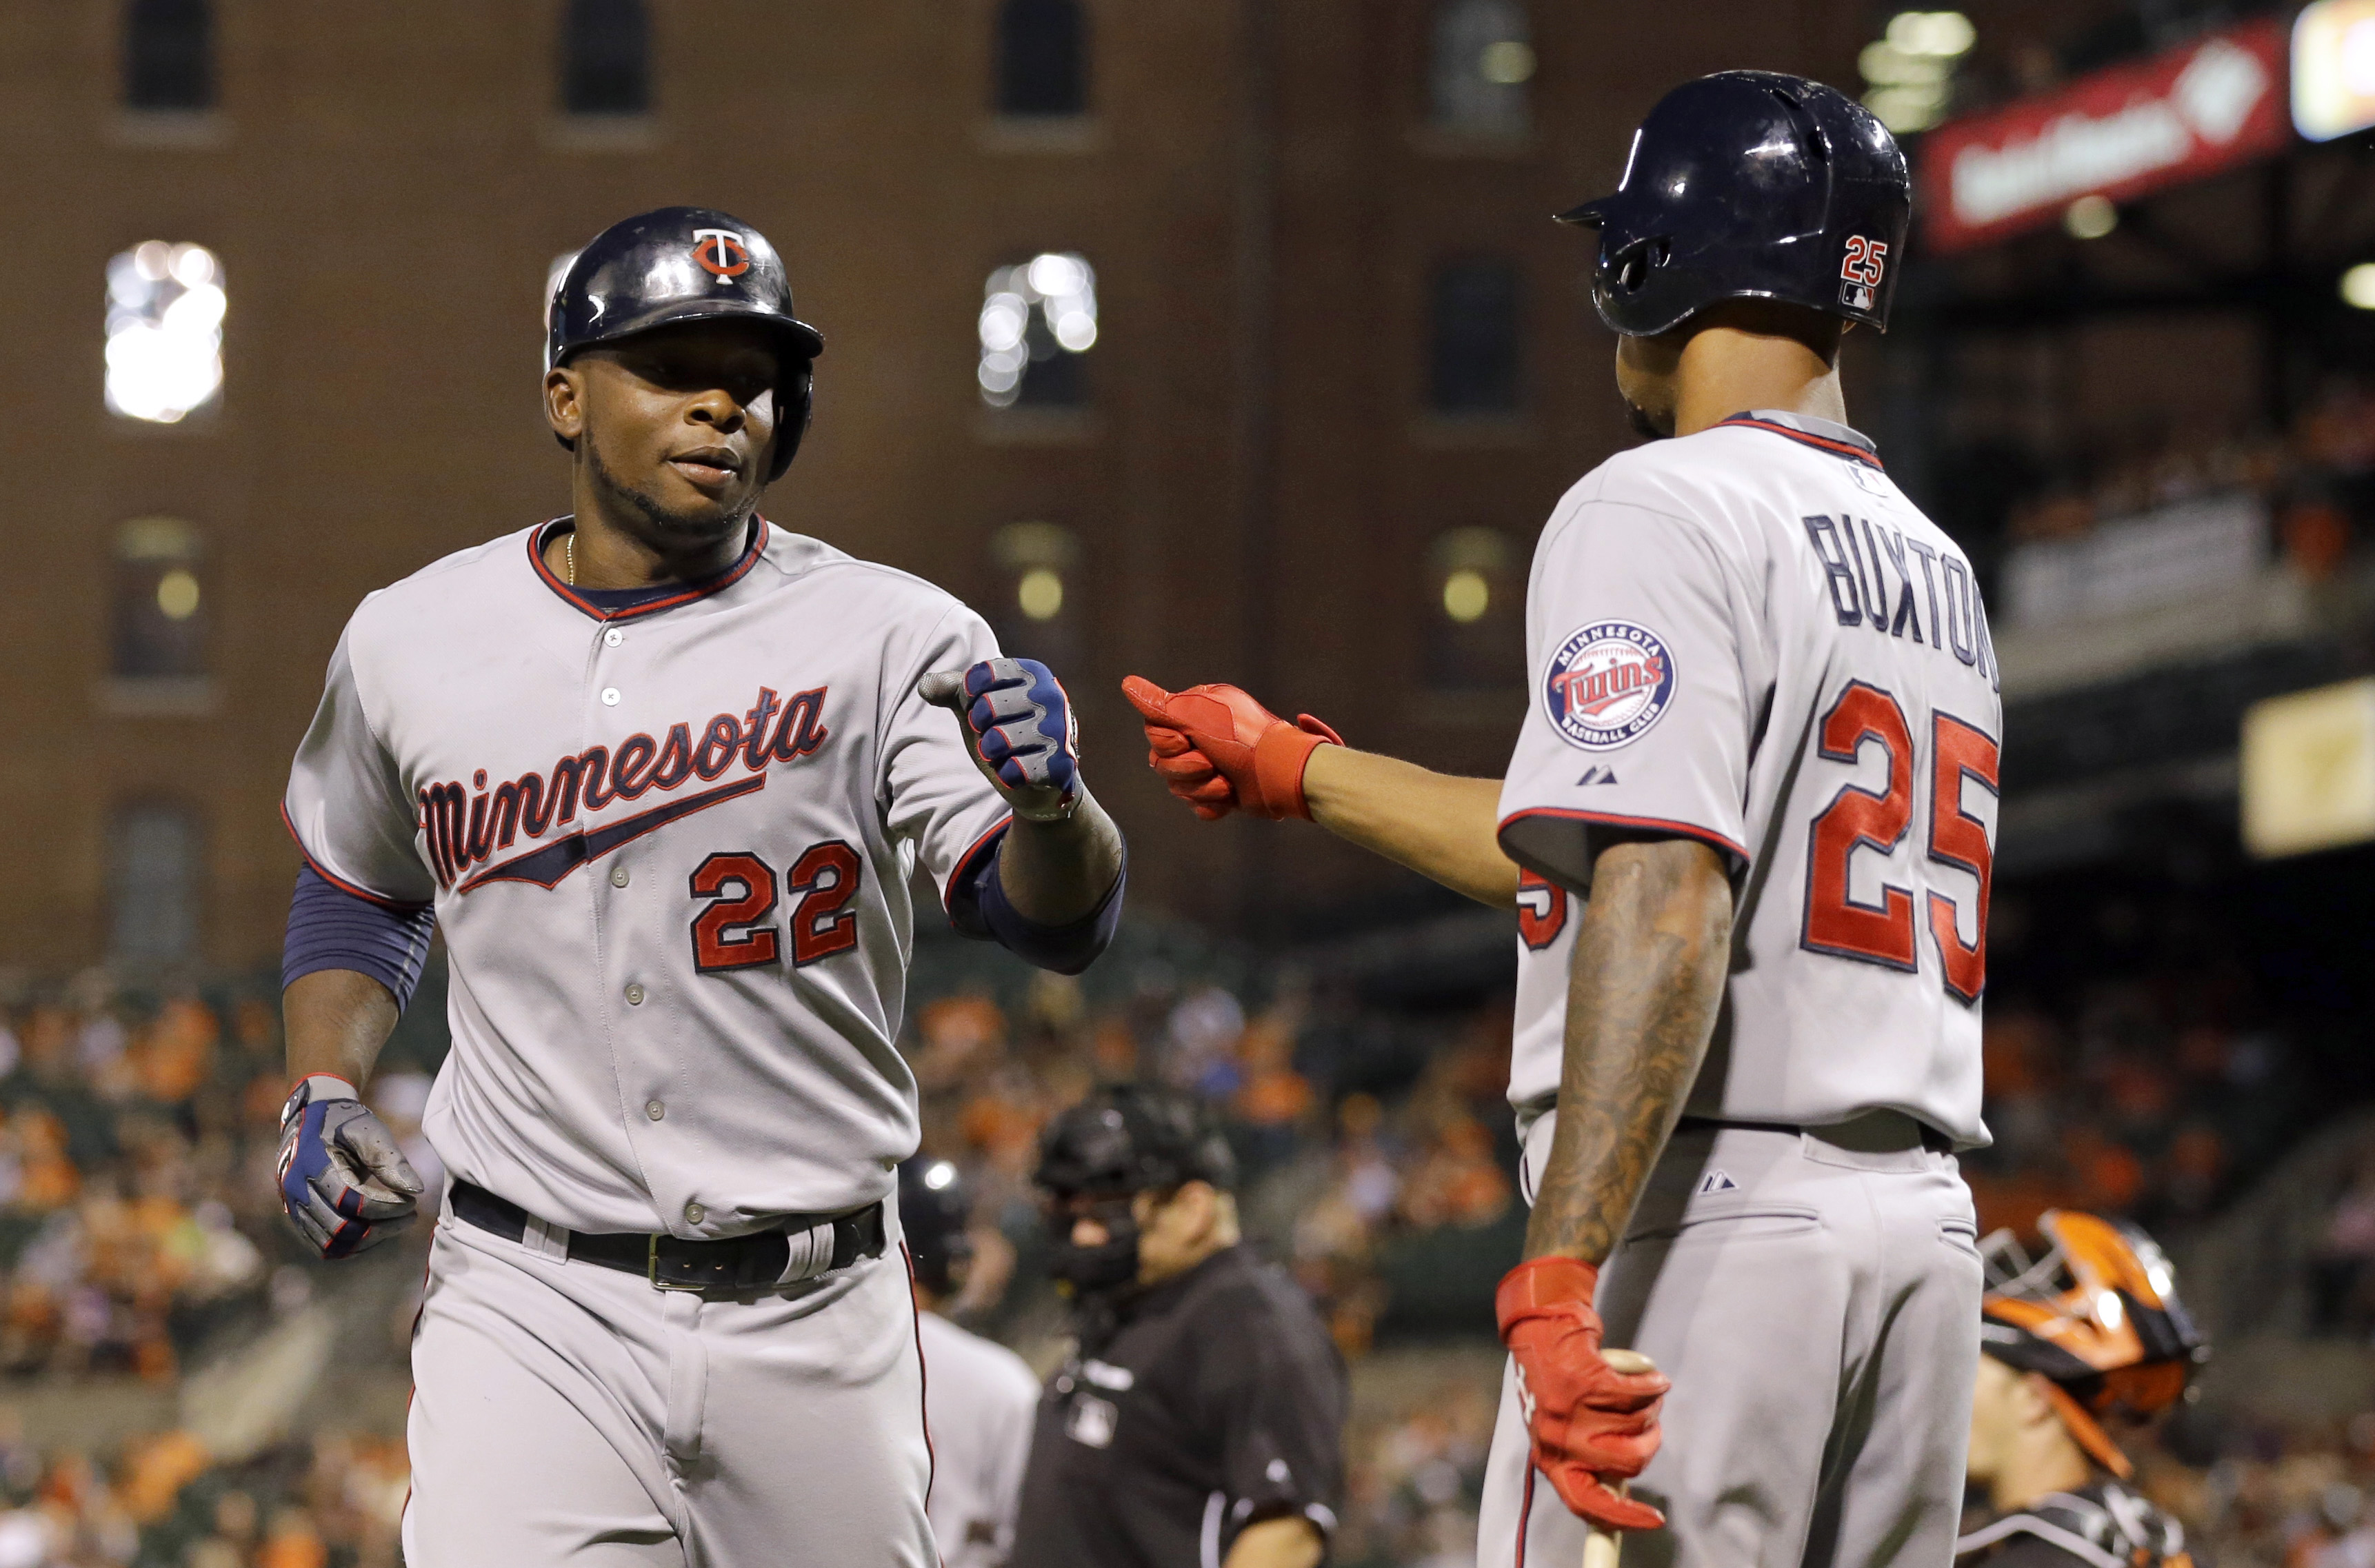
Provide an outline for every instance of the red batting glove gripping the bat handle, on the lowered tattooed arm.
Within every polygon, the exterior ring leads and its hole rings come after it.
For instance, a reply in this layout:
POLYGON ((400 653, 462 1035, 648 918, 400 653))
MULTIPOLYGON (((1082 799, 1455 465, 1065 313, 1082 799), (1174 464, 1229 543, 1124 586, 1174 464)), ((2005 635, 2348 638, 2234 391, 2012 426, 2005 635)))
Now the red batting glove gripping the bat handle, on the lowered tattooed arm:
POLYGON ((1639 1475, 1658 1452, 1658 1402, 1672 1383, 1653 1371, 1620 1373, 1601 1357, 1598 1281, 1586 1262, 1534 1257, 1501 1278, 1494 1311, 1518 1361, 1534 1468, 1570 1513, 1608 1530, 1655 1530, 1665 1513, 1620 1497, 1608 1480, 1639 1475))

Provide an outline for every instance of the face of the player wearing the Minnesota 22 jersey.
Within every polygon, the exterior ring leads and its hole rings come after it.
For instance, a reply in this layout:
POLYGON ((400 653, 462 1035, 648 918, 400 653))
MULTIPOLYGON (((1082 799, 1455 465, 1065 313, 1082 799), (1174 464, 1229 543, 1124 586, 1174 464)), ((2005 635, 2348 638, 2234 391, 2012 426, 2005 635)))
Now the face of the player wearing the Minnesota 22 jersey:
POLYGON ((653 544, 741 527, 774 444, 774 349, 708 321, 582 354, 580 449, 606 516, 653 544))

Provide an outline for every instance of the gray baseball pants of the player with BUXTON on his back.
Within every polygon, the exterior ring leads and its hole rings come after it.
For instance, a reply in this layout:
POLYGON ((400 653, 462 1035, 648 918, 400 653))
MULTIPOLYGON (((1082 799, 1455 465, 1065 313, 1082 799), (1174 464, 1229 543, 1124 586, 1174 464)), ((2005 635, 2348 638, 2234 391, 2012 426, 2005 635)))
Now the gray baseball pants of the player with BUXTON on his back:
MULTIPOLYGON (((1525 1190, 1553 1117, 1527 1128, 1525 1190)), ((1952 1155, 1905 1117, 1786 1133, 1686 1126, 1601 1273, 1608 1342, 1674 1378, 1634 1492, 1667 1528, 1627 1568, 1948 1568, 1981 1264, 1952 1155)), ((1477 1568, 1575 1568, 1584 1523, 1530 1463, 1501 1380, 1477 1568), (1520 1537, 1522 1520, 1522 1537, 1520 1537)))

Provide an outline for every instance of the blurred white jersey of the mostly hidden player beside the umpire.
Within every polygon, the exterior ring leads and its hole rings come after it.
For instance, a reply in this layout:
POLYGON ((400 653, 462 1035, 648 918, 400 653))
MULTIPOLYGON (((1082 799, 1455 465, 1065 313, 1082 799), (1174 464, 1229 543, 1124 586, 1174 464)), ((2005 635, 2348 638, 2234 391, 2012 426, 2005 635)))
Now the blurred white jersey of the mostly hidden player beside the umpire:
POLYGON ((931 1535, 943 1568, 998 1568, 1014 1547, 1038 1376, 1005 1345, 917 1314, 931 1425, 931 1535))

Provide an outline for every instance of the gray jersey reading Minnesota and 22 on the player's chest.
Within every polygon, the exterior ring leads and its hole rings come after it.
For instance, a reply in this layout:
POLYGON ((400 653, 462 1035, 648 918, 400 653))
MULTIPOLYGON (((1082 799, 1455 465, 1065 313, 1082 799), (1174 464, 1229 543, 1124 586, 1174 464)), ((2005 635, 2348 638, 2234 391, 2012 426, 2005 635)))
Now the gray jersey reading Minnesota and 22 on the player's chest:
POLYGON ((314 867, 435 903, 446 1169, 572 1231, 736 1235, 888 1197, 907 877, 1005 824, 929 670, 995 656, 940 589, 765 523, 601 613, 553 525, 370 594, 285 813, 314 867))

